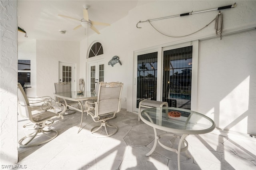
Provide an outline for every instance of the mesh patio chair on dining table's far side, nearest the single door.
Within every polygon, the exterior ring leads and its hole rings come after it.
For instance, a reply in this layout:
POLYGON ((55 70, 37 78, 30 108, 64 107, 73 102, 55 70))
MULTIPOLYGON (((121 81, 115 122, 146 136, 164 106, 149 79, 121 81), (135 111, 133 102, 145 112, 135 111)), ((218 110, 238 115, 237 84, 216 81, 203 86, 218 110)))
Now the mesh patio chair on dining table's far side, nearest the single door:
MULTIPOLYGON (((55 93, 70 92, 70 96, 71 96, 71 83, 65 83, 65 82, 54 83, 54 87, 55 87, 55 93)), ((59 97, 55 97, 55 100, 56 100, 56 102, 62 103, 62 104, 65 105, 64 99, 61 99, 59 97)), ((78 103, 76 101, 66 100, 66 103, 68 105, 78 105, 78 103)), ((67 107, 66 113, 67 114, 72 114, 72 113, 76 113, 76 111, 67 107), (71 112, 68 112, 68 111, 71 111, 71 112)))

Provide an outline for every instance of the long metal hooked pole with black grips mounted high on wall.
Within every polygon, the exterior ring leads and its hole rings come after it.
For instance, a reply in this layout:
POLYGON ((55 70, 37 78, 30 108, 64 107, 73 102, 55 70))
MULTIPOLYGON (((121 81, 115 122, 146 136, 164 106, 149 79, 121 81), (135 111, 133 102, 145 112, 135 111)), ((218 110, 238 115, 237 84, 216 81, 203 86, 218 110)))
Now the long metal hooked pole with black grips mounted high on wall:
POLYGON ((184 13, 184 14, 178 14, 178 15, 173 15, 173 16, 166 16, 166 17, 156 18, 156 19, 152 19, 152 20, 139 21, 136 24, 136 27, 137 28, 141 28, 141 27, 138 27, 138 24, 141 23, 141 22, 150 22, 150 21, 156 21, 156 20, 163 20, 163 19, 167 19, 167 18, 174 18, 174 17, 178 17, 178 16, 186 16, 186 15, 198 14, 198 13, 201 13, 201 12, 208 12, 208 11, 213 11, 213 10, 224 10, 224 9, 234 8, 234 7, 236 7, 236 3, 234 3, 233 5, 222 6, 222 7, 218 7, 218 8, 214 8, 214 9, 210 9, 210 10, 202 10, 202 11, 196 11, 196 12, 192 11, 192 12, 187 12, 187 13, 184 13))

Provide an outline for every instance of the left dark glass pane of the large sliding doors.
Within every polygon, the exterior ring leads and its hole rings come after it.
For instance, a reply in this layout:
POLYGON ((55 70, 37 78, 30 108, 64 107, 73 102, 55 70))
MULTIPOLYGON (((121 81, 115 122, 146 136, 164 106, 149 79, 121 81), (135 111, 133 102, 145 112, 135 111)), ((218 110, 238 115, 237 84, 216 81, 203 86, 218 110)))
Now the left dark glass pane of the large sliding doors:
POLYGON ((144 99, 156 100, 157 52, 138 55, 137 108, 144 99))

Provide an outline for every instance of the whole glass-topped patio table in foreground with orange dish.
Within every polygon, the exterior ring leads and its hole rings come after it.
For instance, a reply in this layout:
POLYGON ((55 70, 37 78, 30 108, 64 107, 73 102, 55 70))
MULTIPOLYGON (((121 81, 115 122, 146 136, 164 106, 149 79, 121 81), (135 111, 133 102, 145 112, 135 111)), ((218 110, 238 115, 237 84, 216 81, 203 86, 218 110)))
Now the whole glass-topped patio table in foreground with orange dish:
POLYGON ((180 170, 180 152, 186 152, 186 156, 190 158, 187 152, 188 142, 185 139, 186 136, 190 134, 208 133, 215 128, 214 121, 209 117, 194 111, 175 107, 145 109, 140 113, 140 119, 150 127, 153 127, 155 134, 154 145, 146 156, 150 156, 150 154, 154 152, 156 144, 158 143, 163 148, 178 154, 178 170, 180 170), (159 141, 161 136, 171 136, 172 134, 166 133, 157 135, 156 129, 177 134, 180 137, 178 149, 170 148, 162 144, 159 141))

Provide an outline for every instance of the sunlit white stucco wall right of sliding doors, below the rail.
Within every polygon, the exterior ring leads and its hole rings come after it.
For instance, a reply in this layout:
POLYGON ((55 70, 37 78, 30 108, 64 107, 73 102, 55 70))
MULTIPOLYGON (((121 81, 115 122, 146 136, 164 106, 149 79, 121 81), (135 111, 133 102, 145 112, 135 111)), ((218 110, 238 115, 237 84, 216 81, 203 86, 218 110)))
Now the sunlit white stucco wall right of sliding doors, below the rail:
POLYGON ((256 134, 256 31, 200 42, 198 111, 216 126, 256 134))

